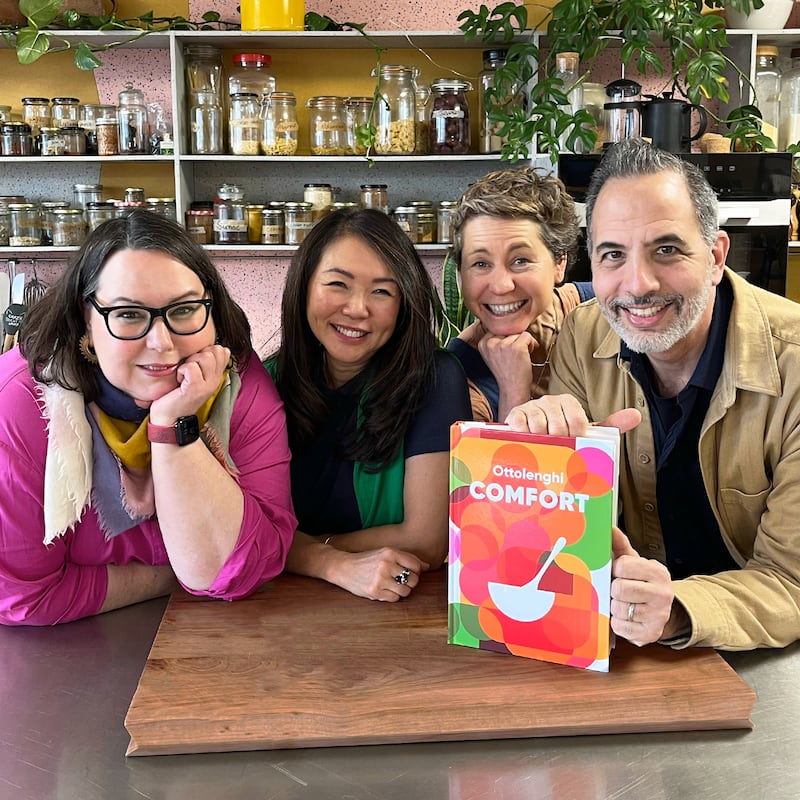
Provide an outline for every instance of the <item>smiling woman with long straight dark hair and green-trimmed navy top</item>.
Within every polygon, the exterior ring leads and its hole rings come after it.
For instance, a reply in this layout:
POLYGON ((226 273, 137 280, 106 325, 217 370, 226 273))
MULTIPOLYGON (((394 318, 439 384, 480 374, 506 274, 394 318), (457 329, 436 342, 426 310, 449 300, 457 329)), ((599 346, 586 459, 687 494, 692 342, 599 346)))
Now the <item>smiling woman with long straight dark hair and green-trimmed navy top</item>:
POLYGON ((267 362, 292 450, 288 570, 392 601, 443 563, 449 429, 471 412, 460 365, 436 347, 434 292, 380 211, 336 211, 298 248, 267 362))

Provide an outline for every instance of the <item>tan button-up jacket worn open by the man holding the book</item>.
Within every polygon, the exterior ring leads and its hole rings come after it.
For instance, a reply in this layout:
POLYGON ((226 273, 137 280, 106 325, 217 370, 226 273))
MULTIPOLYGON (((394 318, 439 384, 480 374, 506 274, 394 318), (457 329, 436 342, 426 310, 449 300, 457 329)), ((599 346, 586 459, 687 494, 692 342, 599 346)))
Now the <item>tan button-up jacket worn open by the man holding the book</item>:
MULTIPOLYGON (((781 647, 800 638, 800 305, 729 269, 725 277, 733 310, 699 453, 711 508, 741 568, 673 582, 692 623, 674 646, 781 647)), ((641 555, 664 562, 650 415, 619 348, 597 301, 579 306, 559 335, 550 392, 575 395, 594 421, 621 408, 642 412, 620 464, 625 533, 641 555)))

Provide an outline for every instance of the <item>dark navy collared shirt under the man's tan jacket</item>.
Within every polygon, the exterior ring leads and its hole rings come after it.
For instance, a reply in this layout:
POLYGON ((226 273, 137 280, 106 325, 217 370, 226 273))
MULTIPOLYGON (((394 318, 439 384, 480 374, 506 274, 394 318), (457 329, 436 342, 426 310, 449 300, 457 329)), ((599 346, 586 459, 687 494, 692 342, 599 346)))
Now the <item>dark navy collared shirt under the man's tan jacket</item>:
MULTIPOLYGON (((657 394, 646 355, 623 342, 620 356, 631 364, 650 409, 656 458, 656 499, 673 579, 736 569, 706 496, 698 442, 711 395, 722 372, 725 338, 733 308, 727 279, 717 286, 708 341, 689 383, 675 397, 657 394)), ((624 511, 623 511, 624 516, 624 511)))

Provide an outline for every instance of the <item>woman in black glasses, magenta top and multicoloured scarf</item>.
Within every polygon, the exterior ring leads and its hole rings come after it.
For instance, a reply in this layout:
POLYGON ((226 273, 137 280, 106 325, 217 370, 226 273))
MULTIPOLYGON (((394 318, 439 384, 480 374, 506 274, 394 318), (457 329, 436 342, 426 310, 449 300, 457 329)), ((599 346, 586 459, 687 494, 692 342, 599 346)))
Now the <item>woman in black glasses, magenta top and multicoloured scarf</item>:
POLYGON ((0 357, 0 623, 249 594, 292 541, 289 459, 206 252, 150 211, 103 223, 0 357))

